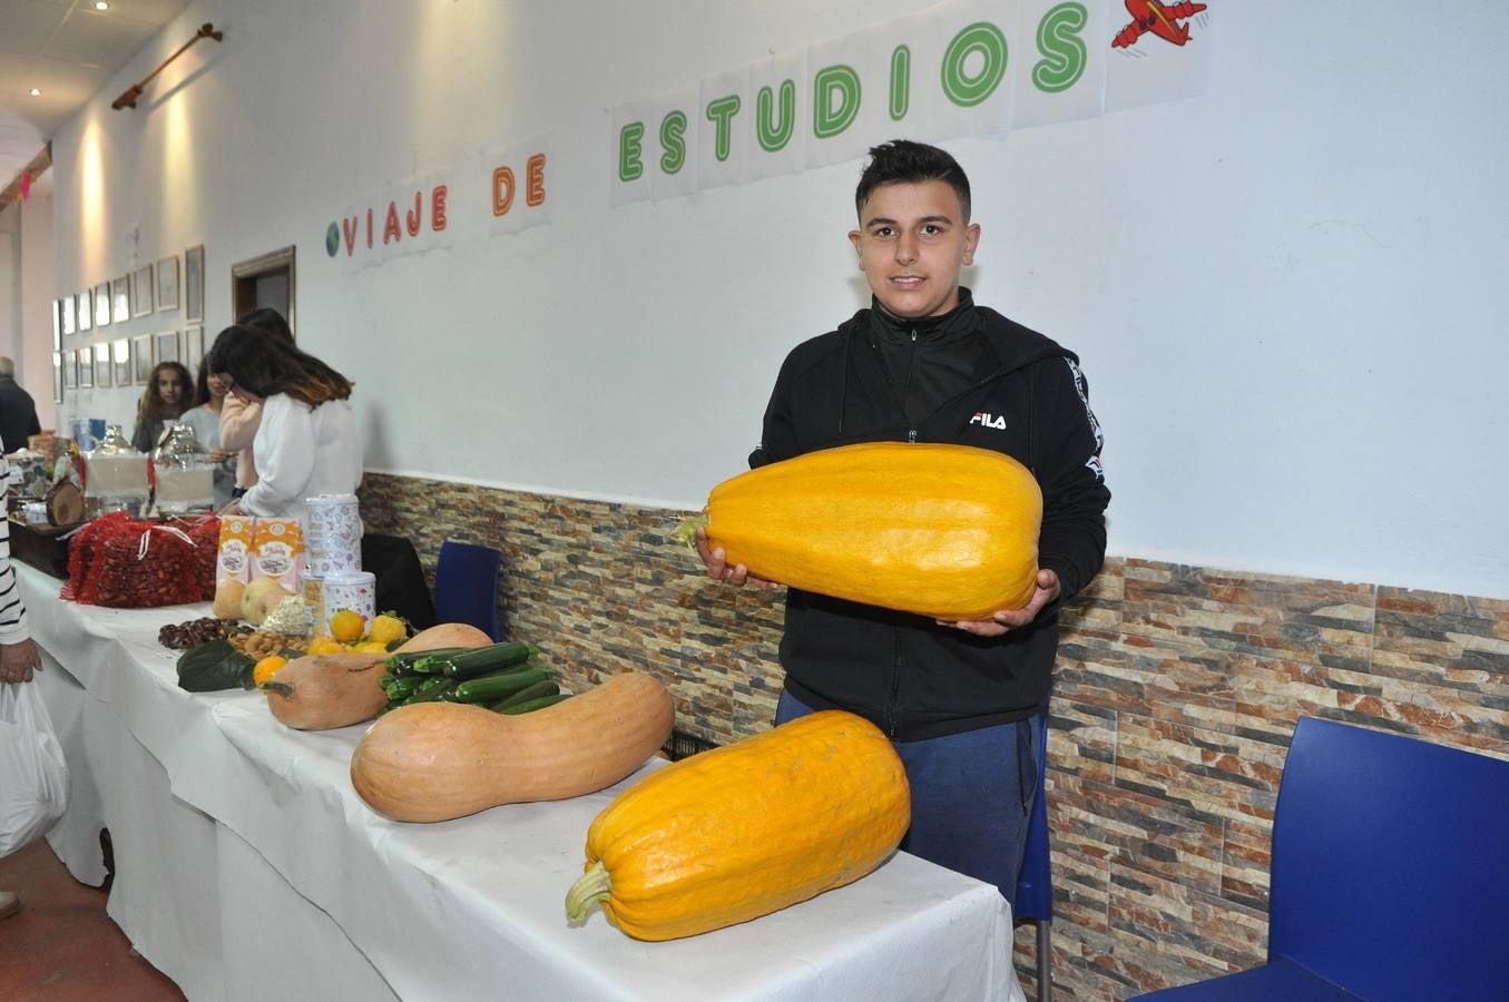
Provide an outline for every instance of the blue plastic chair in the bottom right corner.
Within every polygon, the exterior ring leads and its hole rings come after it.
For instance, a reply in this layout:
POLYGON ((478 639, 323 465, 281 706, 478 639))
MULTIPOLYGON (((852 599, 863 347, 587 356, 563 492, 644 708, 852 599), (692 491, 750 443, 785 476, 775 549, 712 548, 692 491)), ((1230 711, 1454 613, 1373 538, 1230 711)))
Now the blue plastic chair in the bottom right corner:
POLYGON ((1274 810, 1268 964, 1142 996, 1509 993, 1509 762, 1304 717, 1274 810))

